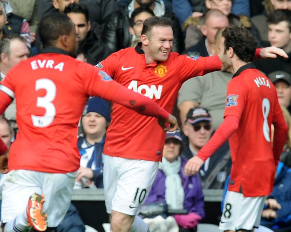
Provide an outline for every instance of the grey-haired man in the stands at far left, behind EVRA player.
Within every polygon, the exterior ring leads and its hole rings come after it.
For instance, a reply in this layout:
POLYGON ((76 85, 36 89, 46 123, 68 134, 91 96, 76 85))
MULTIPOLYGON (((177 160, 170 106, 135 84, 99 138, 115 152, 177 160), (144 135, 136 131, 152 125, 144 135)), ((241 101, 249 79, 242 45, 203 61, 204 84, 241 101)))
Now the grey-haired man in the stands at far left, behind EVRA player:
MULTIPOLYGON (((7 34, 0 41, 0 80, 5 78, 12 67, 28 58, 29 50, 25 42, 22 36, 15 34, 7 34)), ((6 109, 5 118, 9 120, 12 124, 11 127, 16 131, 18 127, 15 100, 6 109)))

